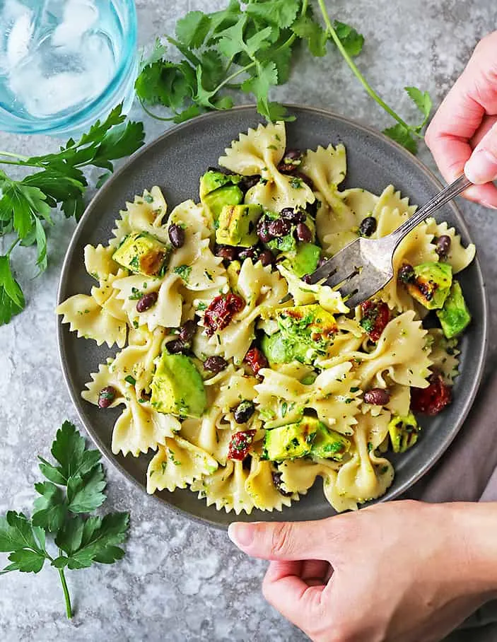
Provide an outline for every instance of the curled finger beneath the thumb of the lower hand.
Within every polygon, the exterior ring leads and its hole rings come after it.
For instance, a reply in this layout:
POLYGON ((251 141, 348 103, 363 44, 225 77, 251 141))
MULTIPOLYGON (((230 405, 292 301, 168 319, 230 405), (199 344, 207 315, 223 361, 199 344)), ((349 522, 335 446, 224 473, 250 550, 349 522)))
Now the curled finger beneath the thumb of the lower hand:
POLYGON ((324 586, 308 586, 294 574, 295 564, 271 561, 262 582, 262 593, 283 617, 306 631, 320 610, 324 586))

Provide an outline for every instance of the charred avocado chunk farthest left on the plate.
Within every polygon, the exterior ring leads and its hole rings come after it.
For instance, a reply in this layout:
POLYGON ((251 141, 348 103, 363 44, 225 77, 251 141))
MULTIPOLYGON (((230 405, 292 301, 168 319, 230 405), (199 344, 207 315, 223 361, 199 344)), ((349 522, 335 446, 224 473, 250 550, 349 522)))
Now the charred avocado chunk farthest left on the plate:
POLYGON ((135 232, 124 238, 112 255, 116 263, 135 274, 158 276, 168 262, 170 248, 148 232, 135 232))

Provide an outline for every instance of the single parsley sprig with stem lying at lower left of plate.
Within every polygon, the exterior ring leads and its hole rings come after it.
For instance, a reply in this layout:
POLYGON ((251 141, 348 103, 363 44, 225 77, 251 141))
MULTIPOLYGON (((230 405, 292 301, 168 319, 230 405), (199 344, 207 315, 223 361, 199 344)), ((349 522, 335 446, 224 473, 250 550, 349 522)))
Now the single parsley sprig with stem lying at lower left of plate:
POLYGON ((57 568, 64 591, 66 614, 73 615, 65 568, 88 568, 95 562, 113 564, 122 559, 129 513, 88 515, 105 502, 105 474, 98 450, 88 450, 76 427, 65 421, 52 443, 56 463, 39 457, 47 481, 35 484, 31 519, 8 510, 0 516, 0 552, 8 553, 11 571, 39 573, 45 562, 57 568), (48 537, 48 541, 47 541, 48 537), (52 552, 49 544, 55 548, 52 552))

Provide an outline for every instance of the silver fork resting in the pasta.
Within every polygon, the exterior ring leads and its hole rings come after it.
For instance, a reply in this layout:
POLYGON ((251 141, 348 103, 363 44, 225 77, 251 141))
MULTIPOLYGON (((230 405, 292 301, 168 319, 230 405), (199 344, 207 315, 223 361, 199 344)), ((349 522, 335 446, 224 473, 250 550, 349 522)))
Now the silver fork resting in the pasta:
POLYGON ((346 305, 356 305, 384 288, 394 276, 392 259, 395 250, 411 230, 428 218, 457 194, 464 192, 472 182, 462 175, 424 204, 415 214, 391 234, 378 239, 358 238, 308 277, 308 283, 316 284, 324 279, 324 285, 338 288, 346 298, 346 305))

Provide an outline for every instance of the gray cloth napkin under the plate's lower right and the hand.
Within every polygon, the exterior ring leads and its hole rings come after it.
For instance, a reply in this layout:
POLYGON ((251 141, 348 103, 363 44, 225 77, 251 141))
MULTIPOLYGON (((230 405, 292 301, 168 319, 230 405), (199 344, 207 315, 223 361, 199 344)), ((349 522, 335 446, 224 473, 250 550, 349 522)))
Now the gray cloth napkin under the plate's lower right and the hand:
MULTIPOLYGON (((490 370, 494 368, 486 368, 487 373, 490 370)), ((403 498, 433 503, 497 501, 497 373, 484 379, 447 452, 403 498)), ((487 602, 445 642, 497 642, 497 600, 487 602)))

